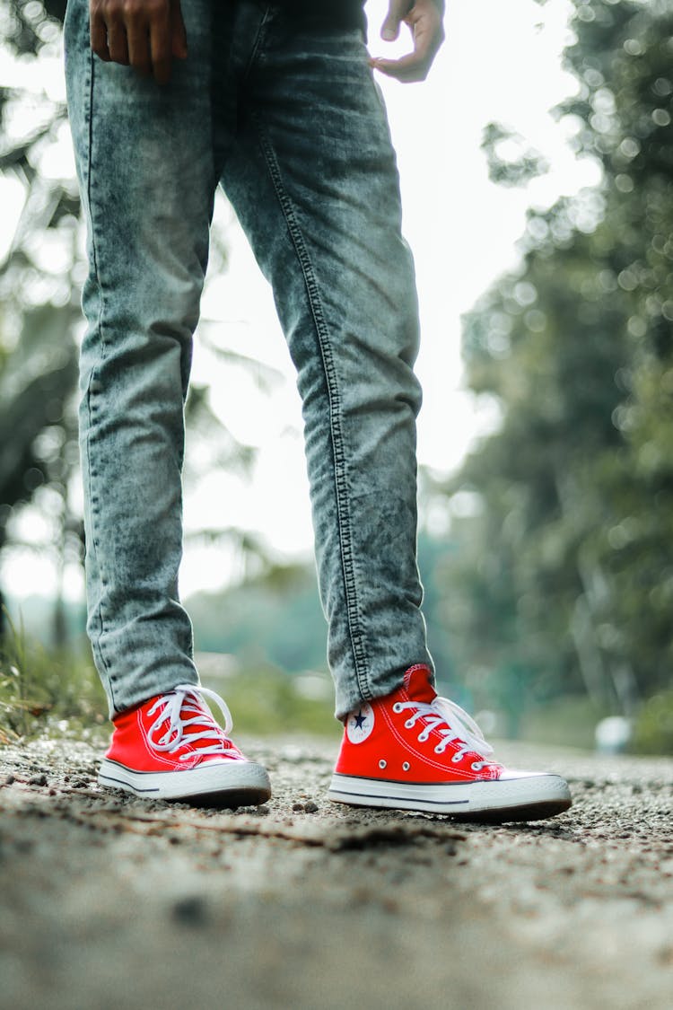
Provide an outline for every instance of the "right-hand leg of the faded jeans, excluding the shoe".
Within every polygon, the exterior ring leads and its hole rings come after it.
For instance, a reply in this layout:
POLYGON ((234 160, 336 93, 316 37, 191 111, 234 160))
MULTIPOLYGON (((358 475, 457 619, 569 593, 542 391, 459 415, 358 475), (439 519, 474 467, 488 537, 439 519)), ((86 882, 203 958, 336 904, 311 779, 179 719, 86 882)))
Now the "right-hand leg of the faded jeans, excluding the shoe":
POLYGON ((222 183, 298 370, 343 718, 431 662, 416 564, 414 271, 361 32, 270 9, 222 183))

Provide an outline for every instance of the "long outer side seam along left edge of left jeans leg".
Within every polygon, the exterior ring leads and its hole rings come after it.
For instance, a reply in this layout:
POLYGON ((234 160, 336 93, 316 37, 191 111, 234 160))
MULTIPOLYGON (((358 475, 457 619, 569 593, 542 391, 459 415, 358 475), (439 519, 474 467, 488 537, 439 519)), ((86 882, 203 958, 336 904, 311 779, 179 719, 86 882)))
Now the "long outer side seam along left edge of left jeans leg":
MULTIPOLYGON (((90 53, 90 57, 89 57, 89 88, 88 88, 88 92, 89 92, 89 109, 88 109, 88 114, 89 115, 88 115, 88 123, 87 123, 87 126, 88 126, 88 140, 89 140, 89 142, 88 142, 88 148, 87 148, 87 204, 88 204, 89 221, 90 221, 90 227, 91 227, 92 265, 93 265, 93 268, 94 268, 94 273, 96 275, 96 284, 97 284, 97 287, 98 287, 98 298, 99 298, 97 331, 98 331, 98 334, 99 334, 100 358, 103 359, 105 357, 105 332, 104 332, 104 327, 103 327, 103 315, 104 315, 104 309, 105 309, 105 295, 104 295, 104 292, 103 292, 103 285, 102 285, 102 282, 101 282, 101 275, 100 275, 100 269, 99 269, 99 257, 98 257, 98 249, 97 249, 97 244, 96 244, 96 234, 95 234, 95 227, 94 227, 94 212, 93 212, 93 206, 92 206, 92 176, 93 176, 92 168, 93 168, 93 143, 94 143, 94 129, 93 129, 93 121, 94 121, 94 77, 95 77, 94 54, 93 54, 93 52, 91 52, 90 53)), ((91 370, 91 374, 89 376, 89 382, 88 382, 87 393, 86 393, 86 396, 87 396, 87 413, 88 413, 88 416, 89 416, 89 429, 87 431, 87 478, 88 478, 88 482, 89 482, 89 500, 91 502, 91 533, 92 533, 92 544, 91 545, 92 545, 92 549, 93 549, 93 552, 94 552, 94 557, 96 559, 96 566, 98 568, 98 574, 99 574, 99 579, 100 579, 100 583, 101 583, 101 598, 102 598, 102 596, 103 596, 103 592, 102 591, 105 588, 105 577, 104 577, 104 574, 103 574, 102 558, 101 558, 101 553, 100 553, 100 550, 99 550, 99 545, 98 545, 97 540, 96 540, 96 532, 95 532, 95 526, 97 525, 97 520, 98 520, 98 496, 94 493, 94 478, 96 478, 98 475, 96 474, 96 471, 92 468, 92 464, 91 464, 91 450, 90 450, 90 446, 91 446, 91 443, 92 443, 91 431, 93 429, 93 417, 94 417, 94 414, 96 413, 96 409, 97 409, 96 405, 92 404, 92 400, 95 397, 95 389, 92 388, 93 384, 94 384, 95 376, 96 376, 96 367, 94 366, 94 368, 91 370), (96 520, 96 522, 95 522, 95 520, 96 520)), ((92 642, 92 645, 96 649, 96 652, 98 653, 100 665, 101 665, 102 669, 105 670, 105 673, 107 675, 108 687, 109 687, 109 691, 110 691, 110 700, 112 702, 112 707, 116 710, 117 706, 116 706, 116 703, 115 703, 115 691, 114 691, 114 684, 113 684, 113 680, 114 679, 113 679, 112 669, 111 669, 110 664, 108 663, 107 658, 105 655, 105 650, 103 648, 103 642, 102 642, 102 637, 103 637, 103 634, 104 634, 104 631, 105 631, 105 620, 104 620, 104 615, 103 615, 103 603, 102 603, 102 599, 101 599, 101 603, 100 603, 100 605, 98 607, 98 623, 99 623, 98 640, 97 640, 97 642, 96 642, 95 645, 93 645, 93 642, 92 642)))

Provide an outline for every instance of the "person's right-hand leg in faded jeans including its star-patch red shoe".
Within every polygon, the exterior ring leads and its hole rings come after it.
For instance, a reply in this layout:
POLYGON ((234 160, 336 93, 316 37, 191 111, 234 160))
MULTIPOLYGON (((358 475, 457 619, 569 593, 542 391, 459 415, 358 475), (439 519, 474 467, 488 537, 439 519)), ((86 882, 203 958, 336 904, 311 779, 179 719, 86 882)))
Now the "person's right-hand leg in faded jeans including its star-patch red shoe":
POLYGON ((495 764, 432 685, 416 565, 414 273, 362 37, 268 8, 240 95, 222 182, 273 286, 304 404, 345 722, 328 795, 498 820, 565 810, 559 776, 495 764))

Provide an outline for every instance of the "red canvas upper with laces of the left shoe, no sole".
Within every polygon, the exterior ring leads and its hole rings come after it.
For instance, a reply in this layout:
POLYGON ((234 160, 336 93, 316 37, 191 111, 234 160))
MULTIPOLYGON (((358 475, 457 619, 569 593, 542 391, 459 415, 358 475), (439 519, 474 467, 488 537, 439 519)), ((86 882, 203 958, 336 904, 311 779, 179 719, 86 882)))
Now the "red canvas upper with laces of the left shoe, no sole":
MULTIPOLYGON (((179 772, 206 762, 244 761, 200 694, 212 695, 218 704, 221 699, 204 688, 198 691, 184 685, 116 716, 106 758, 138 772, 179 772)), ((228 710, 225 716, 231 728, 228 710)))

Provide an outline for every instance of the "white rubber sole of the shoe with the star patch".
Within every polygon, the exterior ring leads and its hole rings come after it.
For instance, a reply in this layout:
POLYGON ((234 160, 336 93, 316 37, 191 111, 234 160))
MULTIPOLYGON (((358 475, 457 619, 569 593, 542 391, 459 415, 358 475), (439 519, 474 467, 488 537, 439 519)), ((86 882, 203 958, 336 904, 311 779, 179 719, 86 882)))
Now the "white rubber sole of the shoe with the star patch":
POLYGON ((539 820, 572 804, 567 782, 558 775, 510 772, 487 782, 423 785, 334 773, 327 794, 335 803, 390 810, 453 814, 462 820, 539 820))

